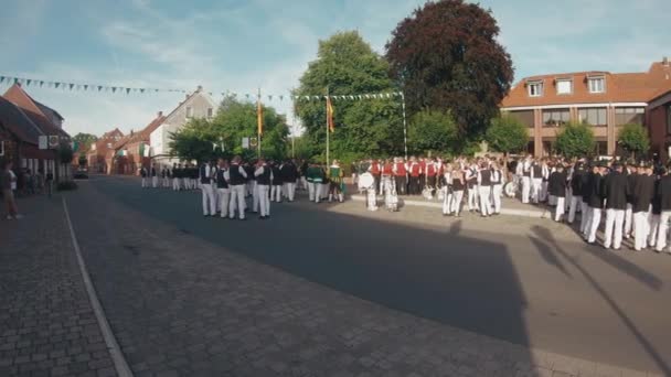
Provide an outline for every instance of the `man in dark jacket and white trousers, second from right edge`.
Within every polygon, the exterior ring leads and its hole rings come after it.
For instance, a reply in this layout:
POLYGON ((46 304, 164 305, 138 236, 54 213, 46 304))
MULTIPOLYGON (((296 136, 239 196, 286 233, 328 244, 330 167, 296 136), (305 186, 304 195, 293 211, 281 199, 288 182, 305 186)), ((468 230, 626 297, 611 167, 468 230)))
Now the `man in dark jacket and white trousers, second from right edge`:
POLYGON ((633 249, 640 251, 646 247, 648 233, 650 229, 648 217, 654 196, 654 176, 652 175, 652 165, 642 165, 639 170, 639 176, 635 181, 633 186, 633 249))

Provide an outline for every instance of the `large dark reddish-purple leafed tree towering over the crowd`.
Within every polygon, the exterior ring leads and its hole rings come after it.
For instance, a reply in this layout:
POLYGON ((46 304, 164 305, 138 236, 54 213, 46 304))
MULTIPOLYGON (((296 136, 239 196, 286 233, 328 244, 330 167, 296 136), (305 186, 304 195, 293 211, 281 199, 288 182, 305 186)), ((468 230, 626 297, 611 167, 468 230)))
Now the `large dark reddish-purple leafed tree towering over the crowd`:
POLYGON ((482 136, 510 89, 513 67, 491 11, 462 0, 428 1, 386 45, 408 109, 450 110, 461 137, 482 136))

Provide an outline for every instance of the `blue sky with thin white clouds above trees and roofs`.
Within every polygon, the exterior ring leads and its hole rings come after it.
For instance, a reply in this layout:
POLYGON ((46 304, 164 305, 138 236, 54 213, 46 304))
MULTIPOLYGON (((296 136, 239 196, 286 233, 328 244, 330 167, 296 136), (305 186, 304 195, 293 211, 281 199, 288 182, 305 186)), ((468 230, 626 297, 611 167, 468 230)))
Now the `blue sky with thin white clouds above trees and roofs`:
MULTIPOLYGON (((4 0, 0 75, 113 86, 287 94, 317 43, 356 29, 374 50, 419 0, 4 0)), ((516 79, 542 73, 645 71, 671 55, 668 0, 488 0, 516 79)), ((0 84, 0 90, 8 86, 0 84)), ((26 88, 72 134, 124 132, 170 111, 182 94, 26 88)), ((217 95, 220 94, 220 95, 217 95)), ((274 100, 281 112, 290 103, 274 100)), ((289 122, 291 116, 289 114, 289 122)))

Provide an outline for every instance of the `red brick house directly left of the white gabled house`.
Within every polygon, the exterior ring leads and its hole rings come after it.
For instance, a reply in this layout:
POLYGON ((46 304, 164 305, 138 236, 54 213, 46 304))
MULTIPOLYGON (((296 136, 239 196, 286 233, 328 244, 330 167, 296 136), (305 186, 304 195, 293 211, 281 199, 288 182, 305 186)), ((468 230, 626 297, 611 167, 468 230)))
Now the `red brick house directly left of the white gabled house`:
POLYGON ((149 134, 161 126, 164 120, 163 112, 159 111, 157 117, 141 131, 130 131, 129 134, 123 137, 114 144, 114 153, 107 159, 113 173, 138 174, 141 166, 149 169, 151 165, 149 134))

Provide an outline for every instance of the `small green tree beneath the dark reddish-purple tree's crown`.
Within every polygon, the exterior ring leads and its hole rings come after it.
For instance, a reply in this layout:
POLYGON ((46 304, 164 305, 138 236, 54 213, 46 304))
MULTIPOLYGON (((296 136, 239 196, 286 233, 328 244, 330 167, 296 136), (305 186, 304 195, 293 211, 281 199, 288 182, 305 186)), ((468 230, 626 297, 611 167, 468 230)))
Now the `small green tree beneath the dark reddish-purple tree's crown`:
POLYGON ((459 146, 457 125, 449 111, 424 110, 415 114, 408 130, 408 146, 415 154, 456 154, 459 146))

